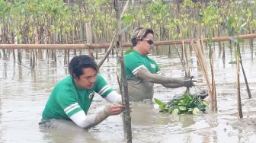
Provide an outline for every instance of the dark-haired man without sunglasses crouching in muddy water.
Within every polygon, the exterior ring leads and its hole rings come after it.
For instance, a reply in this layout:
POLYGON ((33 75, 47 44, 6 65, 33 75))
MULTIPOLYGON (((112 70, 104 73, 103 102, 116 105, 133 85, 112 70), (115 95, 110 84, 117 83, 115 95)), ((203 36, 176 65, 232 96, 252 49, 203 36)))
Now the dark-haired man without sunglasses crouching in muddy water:
POLYGON ((98 73, 98 65, 91 56, 73 57, 69 63, 69 74, 56 84, 50 94, 39 122, 40 127, 62 129, 73 122, 83 129, 88 129, 98 125, 108 116, 122 113, 121 95, 107 85, 98 73), (88 115, 95 92, 111 104, 104 106, 98 113, 88 115))

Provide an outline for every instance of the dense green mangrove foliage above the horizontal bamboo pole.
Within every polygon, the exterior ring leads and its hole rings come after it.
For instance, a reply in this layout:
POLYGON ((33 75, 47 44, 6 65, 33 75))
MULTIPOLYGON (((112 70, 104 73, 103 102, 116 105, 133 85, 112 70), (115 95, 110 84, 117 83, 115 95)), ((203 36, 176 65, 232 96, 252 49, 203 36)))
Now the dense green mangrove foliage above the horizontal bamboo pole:
MULTIPOLYGON (((88 22, 94 43, 109 43, 117 29, 113 6, 108 0, 0 0, 0 43, 84 43, 88 22)), ((203 37, 230 36, 238 23, 246 24, 240 33, 253 33, 255 8, 254 1, 130 2, 122 18, 123 40, 130 42, 138 26, 155 30, 155 40, 193 38, 199 30, 203 37)))

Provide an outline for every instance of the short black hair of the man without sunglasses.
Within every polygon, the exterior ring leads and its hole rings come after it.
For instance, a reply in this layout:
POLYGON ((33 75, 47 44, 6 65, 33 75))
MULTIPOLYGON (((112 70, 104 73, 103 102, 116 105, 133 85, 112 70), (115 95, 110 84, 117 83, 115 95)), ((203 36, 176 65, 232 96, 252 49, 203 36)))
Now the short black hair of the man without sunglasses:
POLYGON ((84 74, 84 68, 94 68, 98 72, 98 65, 91 56, 74 56, 69 62, 69 74, 72 75, 72 78, 80 78, 84 74))

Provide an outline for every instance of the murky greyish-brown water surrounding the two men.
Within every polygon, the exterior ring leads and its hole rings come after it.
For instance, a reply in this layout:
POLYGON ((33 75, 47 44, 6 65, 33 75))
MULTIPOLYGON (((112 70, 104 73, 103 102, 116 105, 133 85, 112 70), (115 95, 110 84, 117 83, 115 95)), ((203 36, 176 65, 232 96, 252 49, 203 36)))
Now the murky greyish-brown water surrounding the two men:
MULTIPOLYGON (((184 71, 177 54, 171 58, 165 55, 155 59, 165 75, 182 76, 184 71)), ((101 56, 103 53, 100 54, 101 56)), ((197 88, 206 89, 203 75, 197 68, 194 54, 191 55, 192 75, 197 79, 197 88)), ((242 82, 242 110, 244 119, 238 119, 236 100, 235 65, 229 64, 233 54, 226 48, 225 62, 216 48, 215 76, 218 113, 199 116, 172 116, 158 113, 158 106, 149 103, 133 103, 133 142, 255 142, 256 141, 256 64, 250 49, 242 52, 243 63, 251 88, 252 99, 248 99, 245 81, 242 82)), ((26 59, 26 56, 24 56, 26 59)), ((42 130, 38 127, 41 112, 57 81, 67 75, 63 56, 59 53, 57 62, 38 60, 34 71, 18 65, 13 59, 0 59, 0 142, 126 142, 123 136, 121 116, 110 116, 98 126, 88 130, 42 130)), ((99 60, 98 60, 99 61, 99 60)), ((101 74, 117 89, 116 58, 101 67, 101 74)), ((23 62, 29 67, 29 59, 23 62)), ((184 88, 168 89, 155 84, 155 97, 169 100, 182 94, 184 88)), ((94 97, 89 113, 99 110, 106 101, 94 97)))

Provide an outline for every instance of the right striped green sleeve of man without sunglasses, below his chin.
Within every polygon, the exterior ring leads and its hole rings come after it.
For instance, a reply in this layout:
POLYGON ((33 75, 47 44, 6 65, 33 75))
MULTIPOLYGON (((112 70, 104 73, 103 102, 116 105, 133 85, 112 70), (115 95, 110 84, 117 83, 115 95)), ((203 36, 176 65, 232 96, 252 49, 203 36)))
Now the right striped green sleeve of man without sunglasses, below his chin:
POLYGON ((95 92, 101 95, 101 97, 107 97, 110 92, 114 91, 112 87, 110 87, 101 74, 97 75, 97 81, 95 83, 95 92))

